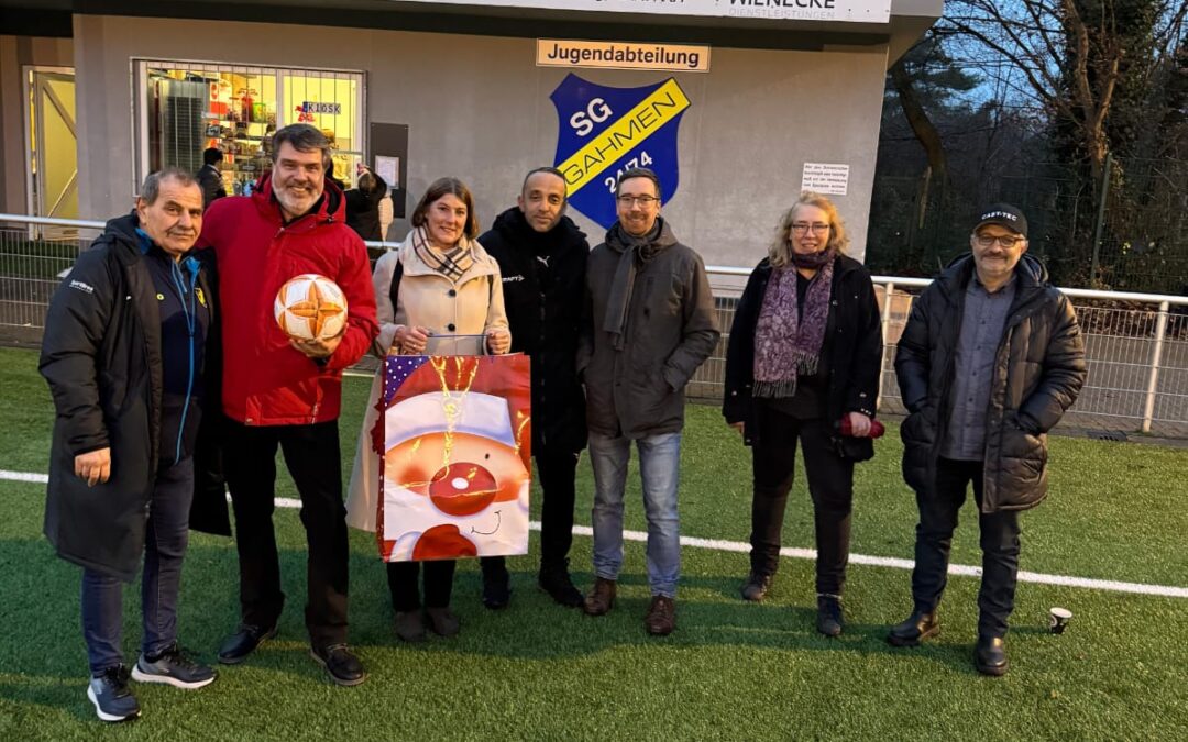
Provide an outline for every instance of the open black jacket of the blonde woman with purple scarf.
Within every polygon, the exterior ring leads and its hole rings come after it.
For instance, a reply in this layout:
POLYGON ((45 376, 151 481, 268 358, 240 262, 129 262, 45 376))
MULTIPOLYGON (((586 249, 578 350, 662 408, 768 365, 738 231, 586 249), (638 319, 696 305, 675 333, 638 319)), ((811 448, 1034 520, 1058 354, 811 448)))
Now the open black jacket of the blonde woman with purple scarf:
MULTIPOLYGON (((722 414, 727 423, 742 423, 742 439, 753 445, 758 436, 754 400, 754 328, 771 279, 771 262, 764 258, 734 310, 734 324, 726 347, 726 394, 722 414)), ((843 437, 839 425, 848 412, 873 418, 878 400, 879 367, 883 364, 883 332, 874 286, 866 267, 845 255, 834 262, 826 332, 832 338, 829 391, 826 416, 834 429, 839 452, 855 461, 874 456, 870 438, 843 437)))

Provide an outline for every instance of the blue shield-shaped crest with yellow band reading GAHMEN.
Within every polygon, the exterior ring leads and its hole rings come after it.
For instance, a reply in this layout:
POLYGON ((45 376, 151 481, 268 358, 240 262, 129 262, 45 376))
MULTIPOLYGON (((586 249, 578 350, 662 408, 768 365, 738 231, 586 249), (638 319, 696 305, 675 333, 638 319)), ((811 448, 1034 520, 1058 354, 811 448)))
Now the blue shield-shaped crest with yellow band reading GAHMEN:
POLYGON ((569 75, 550 99, 560 119, 555 164, 570 205, 609 229, 618 218, 615 180, 632 167, 656 171, 664 201, 676 195, 676 133, 690 104, 676 80, 608 88, 569 75))

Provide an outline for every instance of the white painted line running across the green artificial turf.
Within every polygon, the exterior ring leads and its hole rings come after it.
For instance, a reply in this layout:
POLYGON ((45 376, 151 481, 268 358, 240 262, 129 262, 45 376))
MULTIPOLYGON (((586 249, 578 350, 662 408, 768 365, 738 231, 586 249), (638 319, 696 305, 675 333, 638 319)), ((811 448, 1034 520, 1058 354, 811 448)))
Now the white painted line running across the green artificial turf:
MULTIPOLYGON (((15 482, 49 482, 49 477, 44 474, 31 474, 27 471, 5 471, 0 469, 0 480, 10 480, 15 482)), ((301 508, 301 500, 295 500, 292 497, 277 497, 277 507, 282 508, 301 508)), ((532 531, 539 531, 539 521, 530 521, 529 528, 532 531)), ((574 533, 577 535, 594 535, 594 529, 589 526, 574 526, 574 533)), ((624 531, 623 538, 626 541, 647 541, 647 534, 643 531, 624 531)), ((690 546, 693 548, 709 548, 713 551, 728 551, 735 553, 750 553, 751 545, 742 541, 723 541, 720 539, 702 539, 691 535, 681 537, 682 546, 690 546)), ((797 548, 794 546, 785 546, 779 550, 781 557, 790 557, 792 559, 816 559, 815 548, 797 548)), ((851 564, 862 564, 867 566, 883 566, 897 570, 910 570, 916 563, 911 559, 897 559, 895 557, 871 557, 867 554, 849 554, 851 564)), ((981 567, 973 566, 968 564, 950 564, 949 575, 958 575, 961 577, 981 577, 981 567)), ((1064 588, 1086 588, 1089 590, 1105 590, 1107 592, 1135 592, 1138 595, 1155 595, 1159 597, 1183 597, 1188 598, 1188 588, 1177 588, 1174 585, 1151 585, 1139 582, 1119 582, 1117 579, 1093 579, 1089 577, 1070 577, 1067 575, 1045 575, 1043 572, 1028 572, 1019 571, 1019 582, 1034 582, 1044 585, 1061 585, 1064 588)))

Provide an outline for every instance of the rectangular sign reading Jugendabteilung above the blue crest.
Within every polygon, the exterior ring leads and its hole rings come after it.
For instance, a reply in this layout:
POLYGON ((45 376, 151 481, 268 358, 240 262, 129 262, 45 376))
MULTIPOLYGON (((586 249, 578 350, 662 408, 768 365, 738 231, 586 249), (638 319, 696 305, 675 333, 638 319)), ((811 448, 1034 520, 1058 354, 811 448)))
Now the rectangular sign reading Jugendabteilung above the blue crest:
POLYGON ((630 42, 537 39, 537 66, 708 72, 709 47, 630 42))

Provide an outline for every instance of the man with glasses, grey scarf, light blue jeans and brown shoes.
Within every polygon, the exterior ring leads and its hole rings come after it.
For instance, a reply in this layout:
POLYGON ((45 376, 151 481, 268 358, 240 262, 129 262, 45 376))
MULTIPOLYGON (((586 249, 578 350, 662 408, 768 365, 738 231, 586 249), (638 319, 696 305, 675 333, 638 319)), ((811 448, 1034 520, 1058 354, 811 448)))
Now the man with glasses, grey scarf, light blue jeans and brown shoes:
POLYGON ((577 369, 594 465, 594 588, 586 613, 614 607, 623 566, 623 500, 631 443, 647 513, 644 626, 664 636, 676 628, 681 576, 677 488, 684 386, 718 344, 718 317, 701 256, 681 245, 661 217, 655 172, 633 169, 615 186, 619 221, 590 253, 587 318, 577 369))

